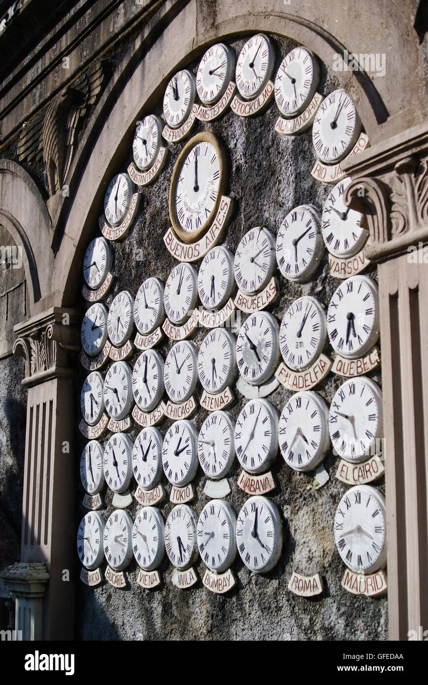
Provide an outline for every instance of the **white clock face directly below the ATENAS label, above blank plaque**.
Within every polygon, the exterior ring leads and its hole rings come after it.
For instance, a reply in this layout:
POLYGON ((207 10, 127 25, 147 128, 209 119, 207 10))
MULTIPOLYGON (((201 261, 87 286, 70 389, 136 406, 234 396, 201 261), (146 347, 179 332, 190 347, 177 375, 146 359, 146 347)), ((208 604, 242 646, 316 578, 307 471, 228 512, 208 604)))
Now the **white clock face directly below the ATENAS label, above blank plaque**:
POLYGON ((198 458, 202 471, 213 480, 227 475, 235 457, 235 421, 226 412, 213 412, 202 423, 198 458))

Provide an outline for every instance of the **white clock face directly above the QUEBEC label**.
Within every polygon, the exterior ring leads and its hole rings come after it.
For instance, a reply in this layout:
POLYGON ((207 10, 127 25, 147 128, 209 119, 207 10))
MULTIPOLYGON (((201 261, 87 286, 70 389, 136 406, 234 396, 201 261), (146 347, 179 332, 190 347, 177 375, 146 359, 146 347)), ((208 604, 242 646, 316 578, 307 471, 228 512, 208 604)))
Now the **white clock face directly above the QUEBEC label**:
POLYGON ((367 276, 351 276, 334 292, 327 311, 327 333, 340 356, 356 359, 379 338, 377 284, 367 276))

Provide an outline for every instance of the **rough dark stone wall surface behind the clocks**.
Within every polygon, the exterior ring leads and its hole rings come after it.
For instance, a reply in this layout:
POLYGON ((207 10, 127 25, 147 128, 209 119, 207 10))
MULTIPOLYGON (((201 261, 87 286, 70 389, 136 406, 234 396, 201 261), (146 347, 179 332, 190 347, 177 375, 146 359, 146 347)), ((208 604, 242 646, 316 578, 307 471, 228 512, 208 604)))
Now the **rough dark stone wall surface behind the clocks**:
MULTIPOLYGON (((232 42, 237 55, 244 40, 232 42)), ((286 53, 295 47, 291 40, 275 38, 276 69, 286 53)), ((198 60, 186 65, 196 71, 198 60)), ((274 72, 276 73, 276 71, 274 72)), ((321 65, 319 92, 327 94, 338 87, 338 82, 321 65)), ((144 112, 143 114, 148 114, 144 112)), ((154 112, 161 114, 161 101, 154 112)), ((278 109, 273 102, 265 114, 254 119, 241 119, 228 112, 211 125, 197 123, 192 135, 201 130, 211 130, 224 140, 229 165, 229 187, 227 195, 235 199, 232 221, 226 229, 226 247, 235 252, 239 240, 251 227, 265 225, 274 233, 284 216, 295 206, 313 203, 322 210, 330 192, 329 186, 317 182, 310 175, 315 163, 311 129, 295 139, 283 138, 274 131, 278 109)), ((105 302, 107 306, 120 290, 131 290, 136 294, 140 284, 149 276, 159 277, 165 282, 171 269, 177 263, 163 244, 163 234, 170 226, 168 195, 174 162, 184 143, 169 145, 168 162, 155 184, 142 191, 142 203, 137 220, 129 236, 122 243, 111 245, 113 271, 117 278, 105 302), (138 252, 141 251, 141 252, 138 252), (142 257, 137 260, 137 256, 142 257)), ((132 160, 128 158, 118 164, 115 173, 126 171, 132 160)), ((101 213, 101 207, 100 207, 101 213)), ((94 227, 94 236, 97 234, 94 227)), ((198 266, 198 264, 196 264, 198 266)), ((376 277, 376 269, 366 272, 376 277)), ((339 281, 330 277, 327 253, 314 277, 307 284, 293 284, 280 275, 280 297, 268 310, 281 321, 286 308, 297 297, 313 295, 327 307, 330 297, 339 281)), ((83 283, 83 276, 81 282, 83 283)), ((241 323, 245 314, 241 314, 241 323)), ((191 338, 200 345, 207 329, 198 329, 191 338)), ((172 341, 163 342, 159 349, 163 358, 172 347, 172 341)), ((325 353, 332 356, 327 346, 325 353)), ((133 366, 138 353, 129 360, 133 366)), ((85 374, 79 378, 76 397, 77 412, 79 394, 85 374)), ((371 377, 380 384, 380 373, 371 377)), ((330 373, 327 379, 315 388, 316 392, 330 403, 332 396, 343 379, 330 373)), ((202 388, 198 384, 197 395, 202 388)), ((267 399, 282 410, 292 393, 280 386, 267 399)), ((248 401, 238 392, 237 399, 228 411, 237 418, 241 408, 248 401)), ((192 421, 199 429, 207 412, 198 409, 192 421)), ((170 421, 159 426, 162 434, 168 430, 170 421)), ((139 427, 131 430, 135 439, 139 427)), ((103 438, 107 441, 109 437, 103 438)), ((85 441, 79 436, 79 449, 75 453, 75 469, 79 473, 80 452, 85 441)), ((189 590, 178 590, 172 585, 172 565, 165 556, 159 569, 163 582, 155 590, 144 590, 137 585, 137 564, 133 559, 127 569, 131 584, 126 590, 117 590, 104 583, 96 588, 84 586, 78 579, 80 565, 76 553, 76 638, 93 639, 182 639, 182 640, 384 640, 387 638, 387 600, 383 598, 355 597, 340 586, 345 566, 341 562, 334 544, 334 513, 346 486, 335 477, 338 458, 330 451, 323 464, 330 480, 319 490, 312 488, 311 475, 297 473, 284 463, 280 453, 273 464, 272 472, 278 484, 269 497, 283 514, 284 545, 277 566, 263 575, 250 573, 237 555, 232 571, 237 577, 237 586, 227 595, 213 595, 202 587, 201 582, 189 590), (325 584, 321 597, 304 599, 296 597, 287 585, 291 572, 305 575, 320 573, 325 584)), ((226 498, 235 512, 243 505, 247 495, 237 486, 241 473, 235 459, 228 475, 231 493, 226 498)), ((171 486, 163 476, 162 482, 169 495, 171 486)), ((203 493, 206 477, 200 467, 193 482, 197 490, 196 499, 189 503, 199 515, 208 500, 203 493)), ((135 486, 135 482, 133 482, 135 486)), ((383 481, 377 482, 383 489, 383 481)), ((86 510, 81 504, 83 488, 79 484, 76 498, 76 531, 86 510)), ((112 493, 103 491, 106 519, 113 511, 112 493)), ((164 519, 170 513, 172 504, 167 496, 159 505, 164 519)), ((134 502, 128 508, 133 519, 139 504, 134 502)), ((202 577, 205 566, 202 560, 196 564, 202 577)), ((105 562, 103 563, 105 568, 105 562)))

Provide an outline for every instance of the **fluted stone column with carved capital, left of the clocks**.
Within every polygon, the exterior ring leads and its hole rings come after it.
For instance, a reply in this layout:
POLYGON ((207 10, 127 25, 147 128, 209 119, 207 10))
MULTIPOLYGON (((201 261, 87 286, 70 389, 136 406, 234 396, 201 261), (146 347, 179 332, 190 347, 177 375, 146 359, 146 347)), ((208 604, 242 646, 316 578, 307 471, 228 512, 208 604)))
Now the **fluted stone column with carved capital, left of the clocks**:
MULTIPOLYGON (((14 353, 24 358, 23 385, 28 387, 21 563, 33 571, 34 564, 38 568, 45 564, 49 574, 42 615, 34 609, 33 639, 39 634, 45 640, 73 637, 74 378, 79 321, 75 310, 54 307, 14 327, 18 335, 14 353)), ((17 567, 21 564, 10 567, 9 575, 18 577, 17 567)), ((25 626, 25 612, 19 611, 25 592, 16 595, 21 597, 16 630, 25 626)))

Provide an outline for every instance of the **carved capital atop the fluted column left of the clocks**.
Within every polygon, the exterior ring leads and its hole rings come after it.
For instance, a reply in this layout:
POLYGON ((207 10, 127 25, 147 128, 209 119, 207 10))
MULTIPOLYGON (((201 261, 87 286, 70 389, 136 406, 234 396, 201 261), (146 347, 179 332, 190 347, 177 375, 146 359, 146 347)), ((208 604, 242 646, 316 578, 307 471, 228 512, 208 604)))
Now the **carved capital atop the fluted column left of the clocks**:
POLYGON ((13 351, 25 362, 23 385, 77 375, 73 357, 80 349, 80 323, 77 310, 52 307, 14 326, 13 351))

